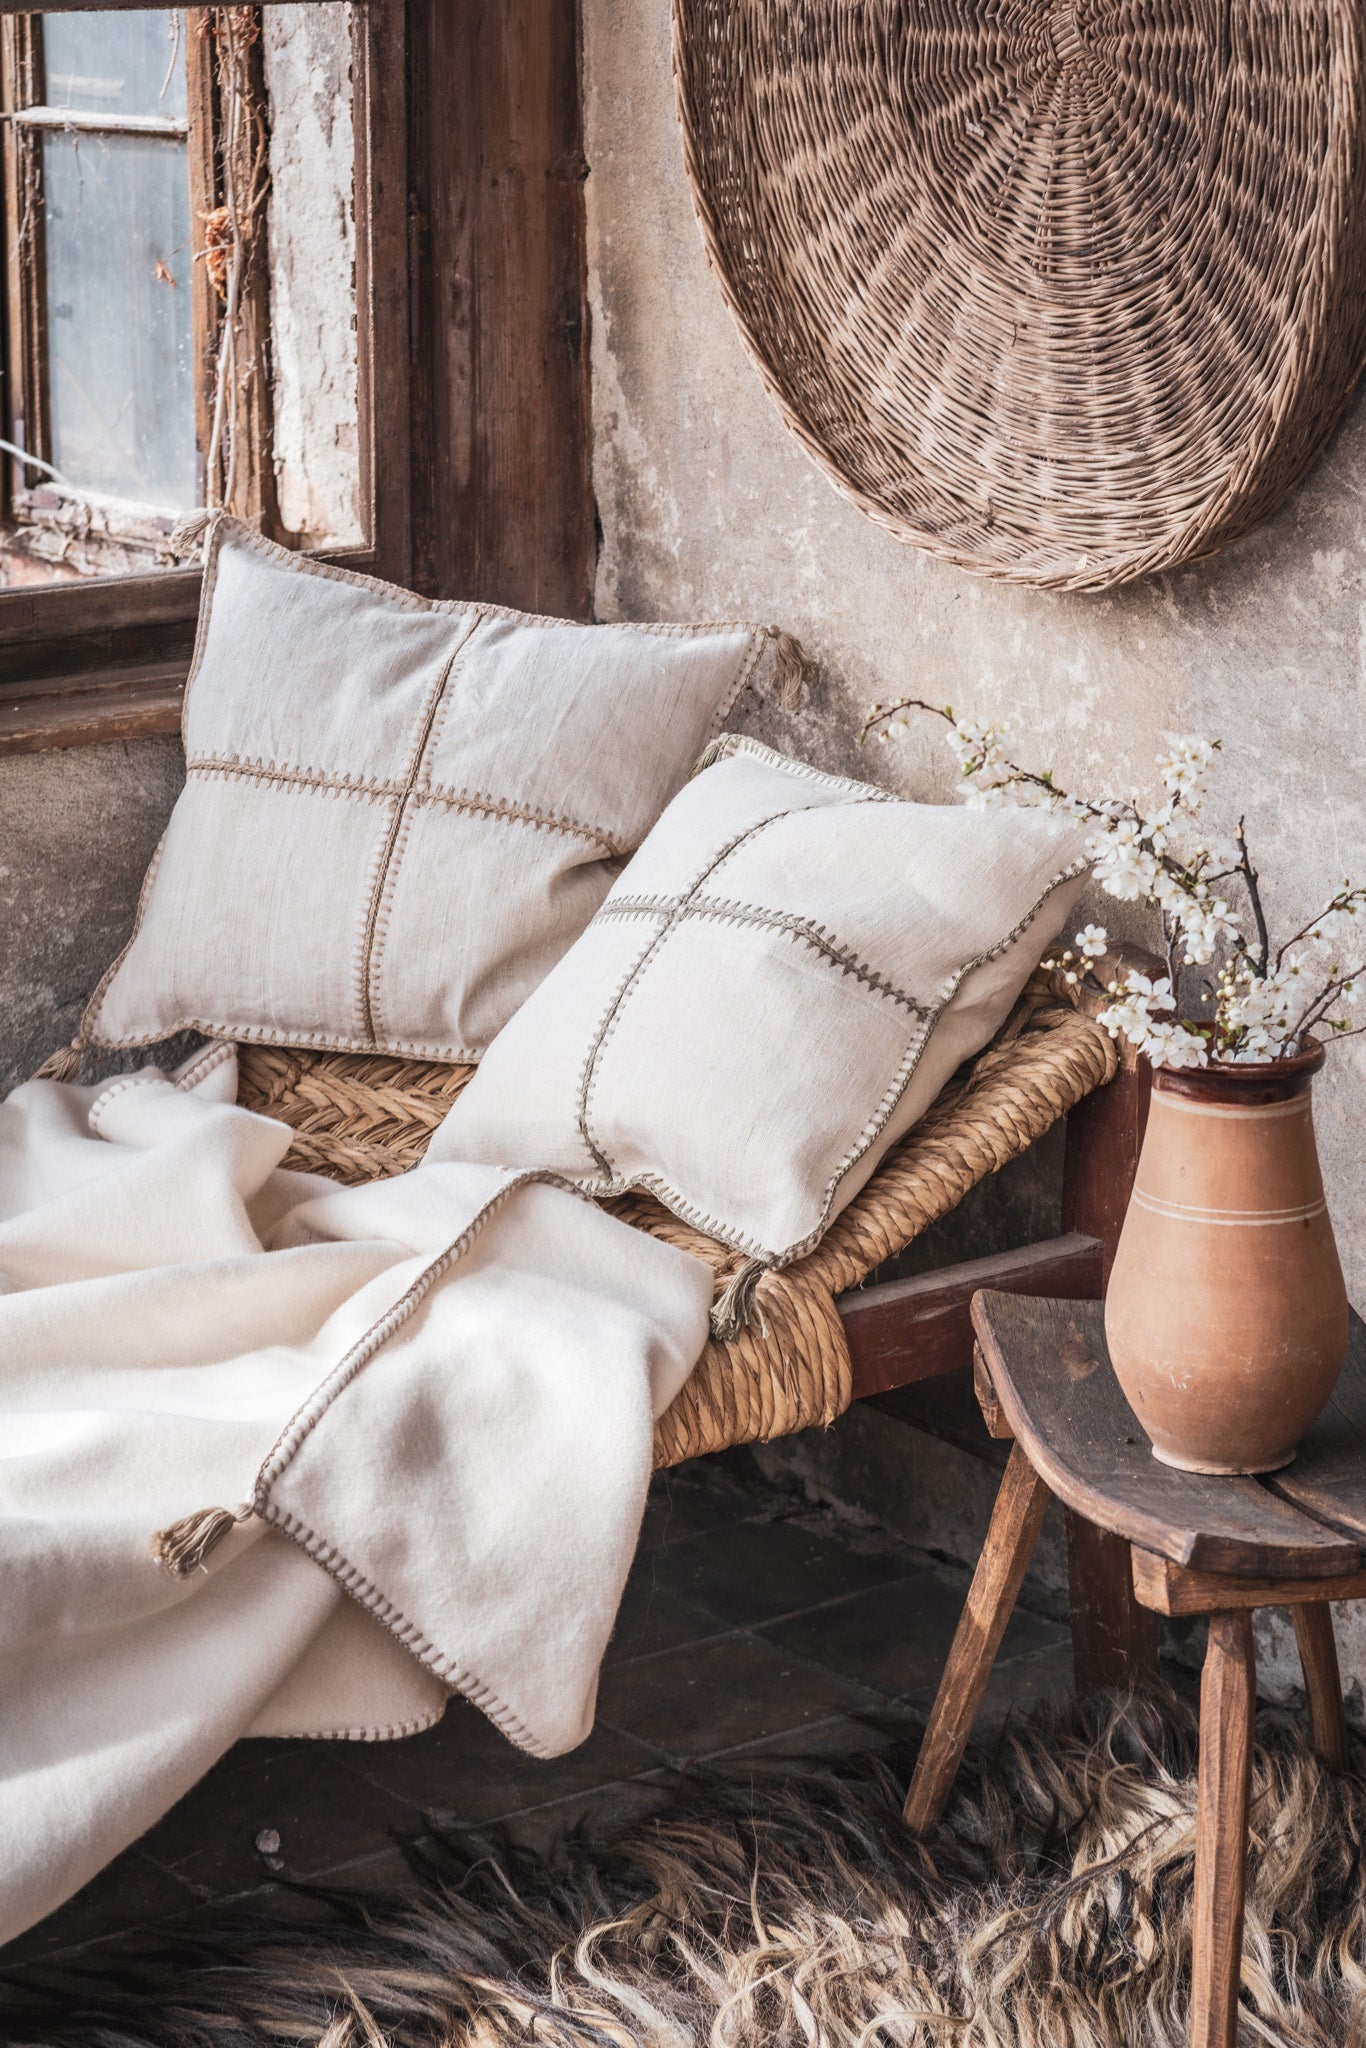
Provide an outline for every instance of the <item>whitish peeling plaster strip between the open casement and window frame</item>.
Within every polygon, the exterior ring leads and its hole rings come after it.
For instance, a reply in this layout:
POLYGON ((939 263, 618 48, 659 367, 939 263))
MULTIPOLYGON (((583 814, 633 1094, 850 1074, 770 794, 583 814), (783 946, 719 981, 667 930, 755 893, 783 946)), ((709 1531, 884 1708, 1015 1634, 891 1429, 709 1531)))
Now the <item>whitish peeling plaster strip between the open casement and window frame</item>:
POLYGON ((281 516, 303 547, 360 541, 350 6, 266 8, 262 57, 281 516))

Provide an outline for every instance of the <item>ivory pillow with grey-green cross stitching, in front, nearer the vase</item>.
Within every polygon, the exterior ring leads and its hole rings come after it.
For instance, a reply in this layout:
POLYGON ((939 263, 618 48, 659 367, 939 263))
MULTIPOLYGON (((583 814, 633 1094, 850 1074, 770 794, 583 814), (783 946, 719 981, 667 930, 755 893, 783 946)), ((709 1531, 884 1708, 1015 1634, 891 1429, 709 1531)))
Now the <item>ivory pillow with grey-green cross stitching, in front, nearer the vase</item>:
POLYGON ((1004 1024, 1081 889, 1085 834, 909 803, 752 739, 711 754, 428 1157, 647 1188, 780 1266, 1004 1024))

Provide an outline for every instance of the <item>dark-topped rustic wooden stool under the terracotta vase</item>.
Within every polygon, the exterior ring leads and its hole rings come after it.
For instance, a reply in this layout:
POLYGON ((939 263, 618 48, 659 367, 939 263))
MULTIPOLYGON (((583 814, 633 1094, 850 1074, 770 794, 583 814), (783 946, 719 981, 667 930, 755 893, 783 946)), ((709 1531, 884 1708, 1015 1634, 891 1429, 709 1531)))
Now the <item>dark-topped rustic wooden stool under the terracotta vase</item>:
POLYGON ((1106 1352, 1104 1307, 977 1294, 977 1399, 1014 1438, 991 1528, 940 1679, 905 1819, 934 1827, 1055 1493, 1130 1544, 1155 1614, 1208 1614, 1190 1989, 1192 2048, 1233 2048, 1257 1669, 1255 1608, 1290 1606, 1315 1747, 1348 1761, 1329 1602, 1366 1597, 1366 1325, 1298 1456, 1266 1479, 1206 1479, 1153 1458, 1106 1352))

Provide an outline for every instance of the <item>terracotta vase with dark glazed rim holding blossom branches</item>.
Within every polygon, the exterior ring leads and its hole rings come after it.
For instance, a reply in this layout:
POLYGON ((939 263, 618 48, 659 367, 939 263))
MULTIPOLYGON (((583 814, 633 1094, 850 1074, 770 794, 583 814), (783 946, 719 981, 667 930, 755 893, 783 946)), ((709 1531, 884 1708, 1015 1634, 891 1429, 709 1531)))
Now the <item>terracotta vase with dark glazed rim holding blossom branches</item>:
POLYGON ((1323 1047, 1153 1073, 1106 1339, 1153 1456, 1274 1473, 1348 1354, 1311 1085, 1323 1047))

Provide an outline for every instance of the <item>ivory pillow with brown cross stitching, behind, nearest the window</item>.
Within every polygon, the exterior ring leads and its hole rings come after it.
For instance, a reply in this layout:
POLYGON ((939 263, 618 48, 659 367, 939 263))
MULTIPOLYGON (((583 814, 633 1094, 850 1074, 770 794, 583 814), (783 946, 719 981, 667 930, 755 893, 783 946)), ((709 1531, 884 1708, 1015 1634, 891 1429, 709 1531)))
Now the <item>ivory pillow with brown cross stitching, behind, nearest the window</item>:
POLYGON ((76 1044, 473 1061, 745 688, 754 625, 575 625, 209 535, 186 784, 76 1044))

